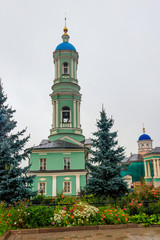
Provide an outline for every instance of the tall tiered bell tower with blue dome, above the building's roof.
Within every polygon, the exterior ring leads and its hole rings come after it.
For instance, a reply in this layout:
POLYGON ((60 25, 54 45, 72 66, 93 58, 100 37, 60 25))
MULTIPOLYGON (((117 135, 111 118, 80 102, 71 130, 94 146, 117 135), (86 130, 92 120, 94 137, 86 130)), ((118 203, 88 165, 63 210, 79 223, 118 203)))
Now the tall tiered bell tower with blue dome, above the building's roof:
POLYGON ((77 79, 79 56, 75 47, 69 43, 66 18, 63 31, 63 42, 53 52, 55 78, 50 94, 53 114, 49 140, 69 139, 83 143, 80 124, 81 94, 77 79))

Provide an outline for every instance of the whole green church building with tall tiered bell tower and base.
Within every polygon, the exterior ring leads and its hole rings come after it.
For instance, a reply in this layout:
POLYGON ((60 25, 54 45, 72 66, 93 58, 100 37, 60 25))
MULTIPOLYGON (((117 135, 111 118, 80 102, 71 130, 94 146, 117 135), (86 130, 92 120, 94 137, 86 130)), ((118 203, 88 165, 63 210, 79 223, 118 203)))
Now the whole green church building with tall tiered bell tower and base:
POLYGON ((36 175, 33 190, 45 196, 77 195, 86 185, 90 140, 85 140, 80 124, 79 55, 69 43, 66 18, 63 31, 63 42, 53 53, 52 127, 48 139, 33 148, 28 173, 36 175))

